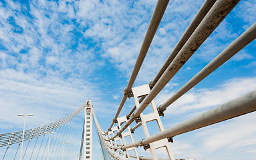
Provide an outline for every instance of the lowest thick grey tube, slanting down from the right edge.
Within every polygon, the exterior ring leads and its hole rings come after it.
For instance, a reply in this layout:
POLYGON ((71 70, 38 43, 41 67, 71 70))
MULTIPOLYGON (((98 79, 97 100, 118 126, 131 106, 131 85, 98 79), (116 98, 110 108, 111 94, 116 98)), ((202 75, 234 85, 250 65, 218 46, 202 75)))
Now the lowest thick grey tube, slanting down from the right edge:
POLYGON ((142 145, 147 145, 154 141, 159 141, 167 137, 174 137, 182 133, 189 131, 194 131, 221 121, 226 121, 228 119, 233 119, 247 113, 256 111, 256 90, 251 91, 241 97, 233 99, 223 105, 215 107, 209 111, 205 111, 201 115, 197 115, 191 119, 183 121, 174 127, 170 127, 160 133, 156 133, 148 138, 142 139, 135 143, 124 145, 120 149, 126 149, 130 147, 138 147, 142 145))

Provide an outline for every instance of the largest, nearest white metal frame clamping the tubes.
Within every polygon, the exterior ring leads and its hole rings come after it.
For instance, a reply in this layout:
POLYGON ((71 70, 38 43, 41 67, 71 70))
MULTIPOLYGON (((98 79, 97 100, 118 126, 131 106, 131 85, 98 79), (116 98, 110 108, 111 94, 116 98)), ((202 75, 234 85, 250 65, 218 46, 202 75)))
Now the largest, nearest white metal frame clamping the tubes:
MULTIPOLYGON (((138 98, 142 97, 144 95, 148 95, 149 92, 150 92, 150 87, 148 85, 142 85, 139 87, 132 88, 132 93, 134 95, 134 102, 135 102, 137 109, 138 109, 138 107, 140 107, 138 98)), ((144 131, 144 134, 146 137, 150 137, 148 127, 146 125, 147 122, 156 121, 159 131, 160 132, 164 131, 164 127, 162 125, 162 121, 161 121, 158 111, 156 109, 156 104, 154 103, 154 100, 151 101, 150 105, 153 110, 152 113, 149 113, 146 115, 144 115, 143 113, 140 113, 140 120, 141 120, 142 128, 143 128, 143 131, 144 131)), ((156 149, 165 147, 169 159, 174 160, 174 157, 170 151, 170 145, 168 144, 168 139, 161 139, 159 141, 149 143, 149 146, 144 146, 144 149, 147 149, 148 147, 150 148, 150 152, 152 154, 152 159, 158 159, 157 155, 156 155, 156 151, 155 151, 156 149)))

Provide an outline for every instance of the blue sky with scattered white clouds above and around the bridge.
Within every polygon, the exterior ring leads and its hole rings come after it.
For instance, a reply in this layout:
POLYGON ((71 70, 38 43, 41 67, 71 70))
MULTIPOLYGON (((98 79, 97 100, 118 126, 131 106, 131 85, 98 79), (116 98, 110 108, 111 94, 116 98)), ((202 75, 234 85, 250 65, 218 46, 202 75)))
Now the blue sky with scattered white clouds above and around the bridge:
MULTIPOLYGON (((134 87, 152 81, 203 1, 170 1, 134 87)), ((91 99, 107 130, 122 99, 156 1, 1 1, 0 133, 20 131, 17 113, 39 127, 91 99)), ((256 1, 240 1, 156 97, 164 103, 255 23, 256 1)), ((162 117, 165 129, 256 88, 255 41, 162 117)), ((128 99, 121 116, 134 106, 128 99)), ((174 137, 174 157, 255 159, 256 114, 174 137)), ((132 124, 134 125, 134 123, 132 124)), ((135 140, 143 134, 134 135, 135 140)), ((140 149, 143 153, 143 149, 140 149)))

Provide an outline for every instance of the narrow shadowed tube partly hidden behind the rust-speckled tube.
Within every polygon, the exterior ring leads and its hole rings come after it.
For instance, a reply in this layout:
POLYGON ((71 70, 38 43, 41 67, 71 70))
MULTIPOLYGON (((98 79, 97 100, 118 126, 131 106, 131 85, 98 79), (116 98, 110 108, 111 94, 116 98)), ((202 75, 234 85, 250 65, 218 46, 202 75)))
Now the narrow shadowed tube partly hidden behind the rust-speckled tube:
POLYGON ((207 15, 211 7, 213 7, 213 4, 215 3, 215 1, 216 0, 206 0, 203 3, 202 7, 197 12, 197 15, 195 15, 194 19, 188 25, 188 27, 186 28, 186 31, 183 33, 182 37, 180 37, 180 40, 175 45, 174 49, 172 50, 172 52, 164 62, 164 65, 162 65, 161 69, 156 74, 156 77, 154 77, 154 79, 151 81, 151 85, 154 86, 158 81, 158 79, 160 79, 160 77, 162 76, 164 71, 167 69, 167 67, 170 65, 170 63, 172 63, 172 60, 176 57, 180 49, 182 49, 182 47, 184 46, 184 44, 186 43, 190 35, 192 35, 192 33, 195 31, 197 26, 201 23, 205 15, 207 15))

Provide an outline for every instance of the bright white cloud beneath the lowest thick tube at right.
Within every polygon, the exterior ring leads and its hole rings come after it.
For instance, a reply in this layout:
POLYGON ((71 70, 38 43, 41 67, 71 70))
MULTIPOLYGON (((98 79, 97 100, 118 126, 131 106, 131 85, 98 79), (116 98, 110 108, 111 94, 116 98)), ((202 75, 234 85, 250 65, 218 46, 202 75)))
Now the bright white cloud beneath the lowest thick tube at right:
POLYGON ((235 150, 256 145, 255 114, 245 115, 231 122, 205 129, 197 134, 203 141, 205 150, 214 151, 221 147, 235 150), (245 125, 246 124, 246 125, 245 125), (237 141, 243 139, 243 141, 237 141), (233 145, 235 144, 235 145, 233 145))

